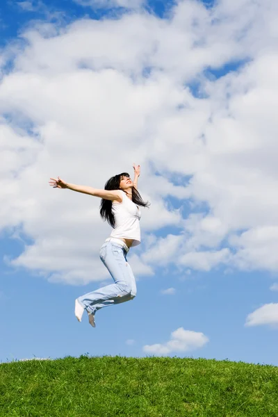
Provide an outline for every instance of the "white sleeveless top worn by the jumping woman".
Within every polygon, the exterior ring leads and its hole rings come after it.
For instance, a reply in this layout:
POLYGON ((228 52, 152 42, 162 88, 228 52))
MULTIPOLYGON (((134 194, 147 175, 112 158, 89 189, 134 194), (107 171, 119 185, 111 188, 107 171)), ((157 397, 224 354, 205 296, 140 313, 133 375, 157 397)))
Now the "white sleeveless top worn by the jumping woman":
POLYGON ((140 245, 141 234, 139 220, 141 212, 135 203, 127 197, 124 191, 122 193, 122 203, 113 202, 112 212, 115 217, 115 228, 111 233, 111 238, 133 239, 131 246, 140 245))

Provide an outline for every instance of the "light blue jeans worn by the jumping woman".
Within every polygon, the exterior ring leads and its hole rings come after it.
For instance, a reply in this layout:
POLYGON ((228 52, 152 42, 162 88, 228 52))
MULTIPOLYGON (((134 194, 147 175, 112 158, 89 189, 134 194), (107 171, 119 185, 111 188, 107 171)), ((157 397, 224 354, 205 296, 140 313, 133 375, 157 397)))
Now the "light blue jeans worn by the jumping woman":
POLYGON ((126 261, 124 247, 115 242, 104 243, 99 257, 115 284, 99 288, 78 298, 79 303, 90 314, 95 314, 102 307, 132 300, 136 296, 136 280, 131 266, 126 261))

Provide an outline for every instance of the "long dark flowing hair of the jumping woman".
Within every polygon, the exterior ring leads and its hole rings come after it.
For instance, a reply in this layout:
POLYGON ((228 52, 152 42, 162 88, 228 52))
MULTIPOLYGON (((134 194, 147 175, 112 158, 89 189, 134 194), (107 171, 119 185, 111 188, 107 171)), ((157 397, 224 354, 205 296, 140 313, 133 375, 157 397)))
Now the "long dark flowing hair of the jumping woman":
MULTIPOLYGON (((115 177, 111 177, 111 179, 108 179, 106 182, 104 189, 105 190, 120 190, 120 181, 121 177, 129 177, 129 174, 127 172, 122 172, 122 174, 117 174, 115 177)), ((149 207, 149 202, 144 202, 142 200, 142 197, 138 193, 135 187, 132 187, 132 201, 133 203, 137 204, 138 206, 143 207, 149 207)), ((112 211, 112 202, 111 200, 107 200, 104 198, 101 198, 100 203, 100 215, 101 218, 108 221, 108 223, 114 228, 115 227, 115 218, 112 211)))

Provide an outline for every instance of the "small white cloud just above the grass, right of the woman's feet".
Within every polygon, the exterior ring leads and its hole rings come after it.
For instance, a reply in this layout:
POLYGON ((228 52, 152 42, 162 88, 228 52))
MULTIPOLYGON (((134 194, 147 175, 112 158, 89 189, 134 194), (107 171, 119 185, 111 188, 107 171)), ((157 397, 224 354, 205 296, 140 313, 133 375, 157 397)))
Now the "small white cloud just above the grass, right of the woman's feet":
POLYGON ((164 355, 172 352, 188 352, 203 347, 206 343, 208 343, 208 338, 203 333, 184 330, 183 327, 179 327, 171 333, 170 341, 145 345, 143 350, 149 354, 164 355))

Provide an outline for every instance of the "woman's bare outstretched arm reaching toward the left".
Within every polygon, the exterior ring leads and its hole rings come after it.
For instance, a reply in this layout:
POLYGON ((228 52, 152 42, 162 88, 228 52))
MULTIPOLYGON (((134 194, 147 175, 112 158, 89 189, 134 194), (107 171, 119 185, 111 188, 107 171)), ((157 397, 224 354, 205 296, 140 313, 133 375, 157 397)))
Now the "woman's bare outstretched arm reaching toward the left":
POLYGON ((78 186, 76 184, 70 184, 63 181, 63 179, 51 178, 49 181, 49 185, 54 188, 68 188, 72 191, 77 191, 77 193, 89 194, 93 195, 94 197, 100 197, 103 199, 109 200, 116 200, 117 202, 122 202, 122 195, 120 190, 99 190, 97 188, 92 188, 88 186, 78 186))

